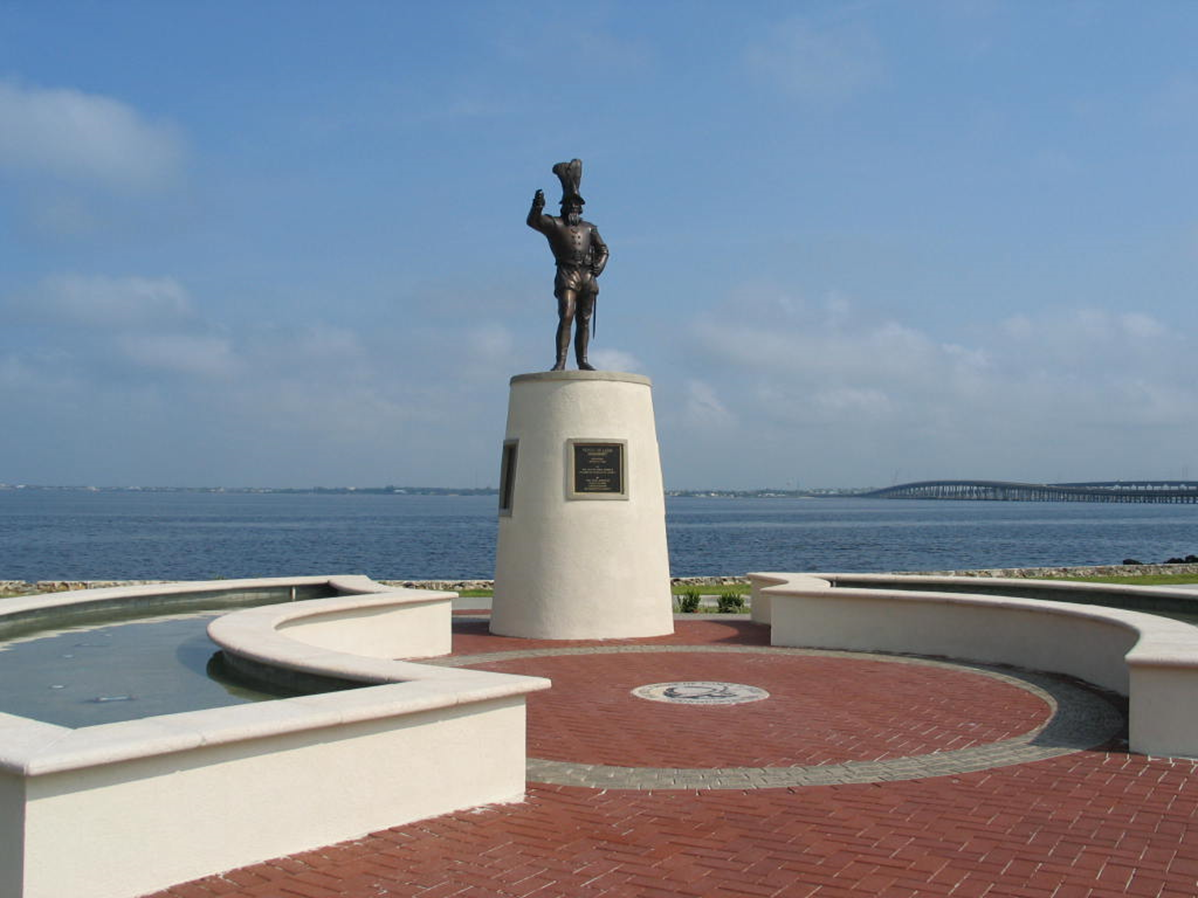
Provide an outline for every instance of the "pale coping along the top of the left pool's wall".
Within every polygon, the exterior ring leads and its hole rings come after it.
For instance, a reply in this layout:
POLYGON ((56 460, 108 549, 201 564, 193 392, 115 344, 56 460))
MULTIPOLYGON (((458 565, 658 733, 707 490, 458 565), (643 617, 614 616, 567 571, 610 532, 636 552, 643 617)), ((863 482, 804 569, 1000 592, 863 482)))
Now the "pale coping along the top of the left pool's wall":
POLYGON ((241 651, 253 653, 264 663, 295 666, 297 669, 329 676, 381 685, 80 728, 0 714, 0 770, 25 777, 41 776, 202 746, 399 717, 520 696, 550 686, 549 680, 536 676, 443 668, 329 651, 278 631, 278 626, 303 617, 337 614, 347 609, 394 609, 401 605, 426 607, 430 603, 449 602, 454 597, 453 593, 391 589, 363 576, 205 581, 54 593, 6 600, 0 606, 0 619, 10 613, 50 612, 55 607, 69 609, 79 603, 95 605, 104 600, 120 608, 131 596, 144 600, 168 595, 177 597, 321 584, 343 595, 249 608, 224 615, 213 624, 220 624, 216 629, 229 644, 238 647, 241 651))

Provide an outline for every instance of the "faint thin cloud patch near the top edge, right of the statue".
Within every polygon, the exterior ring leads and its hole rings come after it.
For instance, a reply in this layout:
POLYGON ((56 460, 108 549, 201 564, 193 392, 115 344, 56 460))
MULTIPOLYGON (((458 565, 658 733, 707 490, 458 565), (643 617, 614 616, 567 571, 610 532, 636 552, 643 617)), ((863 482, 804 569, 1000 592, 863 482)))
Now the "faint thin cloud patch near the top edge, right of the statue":
POLYGON ((816 28, 794 18, 746 54, 760 79, 805 101, 840 103, 877 83, 882 51, 871 34, 851 25, 816 28))

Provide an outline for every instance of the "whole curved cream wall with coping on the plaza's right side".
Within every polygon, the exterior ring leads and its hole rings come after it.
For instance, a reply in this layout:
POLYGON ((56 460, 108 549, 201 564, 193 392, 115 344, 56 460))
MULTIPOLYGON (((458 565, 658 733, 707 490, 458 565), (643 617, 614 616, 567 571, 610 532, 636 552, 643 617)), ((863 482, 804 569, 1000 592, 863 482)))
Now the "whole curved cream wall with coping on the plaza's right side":
MULTIPOLYGON (((749 578, 754 619, 770 625, 774 645, 946 655, 1069 674, 1127 696, 1132 751, 1198 757, 1198 627, 1094 605, 974 595, 967 577, 749 578), (920 589, 958 584, 960 593, 920 589)), ((1077 599, 1089 584, 1061 585, 1077 599)), ((1003 587, 986 578, 982 588, 1003 587)))

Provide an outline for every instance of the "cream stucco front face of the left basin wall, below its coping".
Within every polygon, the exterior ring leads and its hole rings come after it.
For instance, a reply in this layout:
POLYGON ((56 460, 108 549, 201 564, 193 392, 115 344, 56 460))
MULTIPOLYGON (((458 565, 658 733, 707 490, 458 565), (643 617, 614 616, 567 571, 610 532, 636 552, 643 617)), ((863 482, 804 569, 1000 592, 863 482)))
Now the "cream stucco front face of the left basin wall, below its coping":
POLYGON ((521 696, 31 777, 24 891, 6 894, 129 898, 519 800, 524 733, 521 696))

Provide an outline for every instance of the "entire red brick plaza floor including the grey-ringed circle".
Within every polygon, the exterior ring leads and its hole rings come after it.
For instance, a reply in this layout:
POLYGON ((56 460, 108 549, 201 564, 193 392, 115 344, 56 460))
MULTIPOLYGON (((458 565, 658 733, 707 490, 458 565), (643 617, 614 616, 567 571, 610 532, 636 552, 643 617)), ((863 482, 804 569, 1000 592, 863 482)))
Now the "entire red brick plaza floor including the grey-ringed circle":
POLYGON ((1063 678, 770 649, 743 619, 552 643, 465 617, 444 663, 553 680, 528 702, 524 802, 156 898, 1198 894, 1198 762, 1127 754, 1118 699, 1063 678), (679 680, 769 697, 630 693, 679 680))

